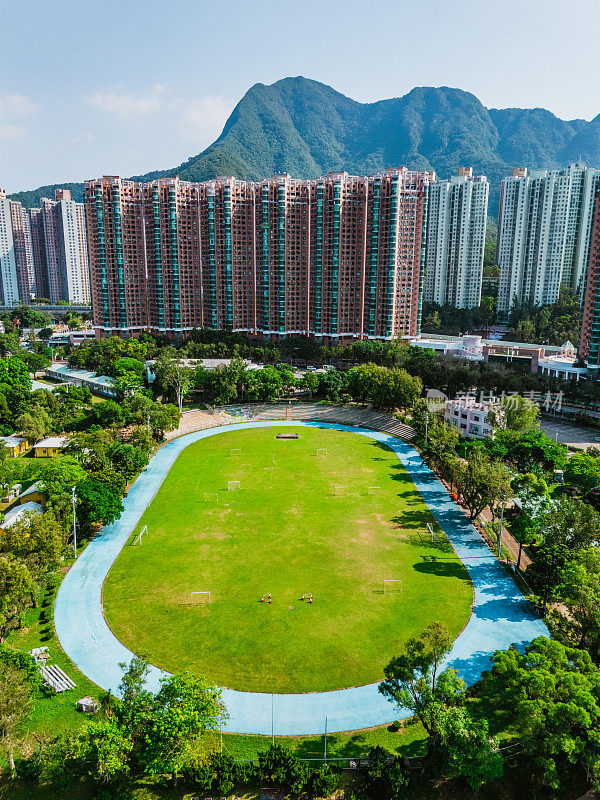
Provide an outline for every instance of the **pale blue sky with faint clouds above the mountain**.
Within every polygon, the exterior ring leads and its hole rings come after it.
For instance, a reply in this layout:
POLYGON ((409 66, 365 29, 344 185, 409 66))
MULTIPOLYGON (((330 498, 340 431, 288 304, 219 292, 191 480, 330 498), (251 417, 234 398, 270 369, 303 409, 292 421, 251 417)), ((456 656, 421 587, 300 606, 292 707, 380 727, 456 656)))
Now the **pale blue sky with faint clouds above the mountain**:
POLYGON ((0 0, 0 186, 176 166, 254 83, 600 113, 598 0, 0 0))

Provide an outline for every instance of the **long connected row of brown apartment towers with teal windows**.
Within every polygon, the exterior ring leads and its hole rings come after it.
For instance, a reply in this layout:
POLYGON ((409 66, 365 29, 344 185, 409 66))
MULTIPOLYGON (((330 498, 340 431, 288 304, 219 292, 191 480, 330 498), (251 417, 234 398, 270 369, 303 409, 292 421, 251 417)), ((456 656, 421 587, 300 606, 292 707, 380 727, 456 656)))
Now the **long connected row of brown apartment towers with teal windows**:
POLYGON ((97 336, 414 336, 433 173, 87 181, 97 336))

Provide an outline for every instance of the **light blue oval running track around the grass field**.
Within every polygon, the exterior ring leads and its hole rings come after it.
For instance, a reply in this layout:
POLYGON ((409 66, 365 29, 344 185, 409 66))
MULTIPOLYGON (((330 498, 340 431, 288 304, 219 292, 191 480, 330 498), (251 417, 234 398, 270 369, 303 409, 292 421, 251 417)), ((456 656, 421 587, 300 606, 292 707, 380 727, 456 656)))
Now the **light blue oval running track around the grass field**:
MULTIPOLYGON (((386 433, 333 423, 253 422, 237 427, 298 425, 345 430, 382 442, 408 470, 467 567, 475 588, 473 613, 456 639, 448 661, 467 683, 477 681, 482 670, 489 668, 490 655, 495 650, 513 642, 523 646, 536 636, 547 635, 546 627, 413 447, 386 433)), ((179 453, 192 442, 232 430, 235 426, 227 425, 198 431, 161 447, 129 490, 121 518, 102 528, 62 582, 54 611, 58 638, 69 658, 103 689, 115 692, 121 679, 119 663, 129 663, 132 657, 104 620, 104 579, 179 453)), ((156 691, 164 675, 152 667, 148 688, 156 691)), ((224 689, 223 700, 230 713, 224 730, 235 733, 270 735, 273 726, 278 735, 315 734, 323 731, 325 716, 327 729, 335 733, 383 725, 408 716, 378 693, 376 683, 314 694, 271 695, 224 689)))

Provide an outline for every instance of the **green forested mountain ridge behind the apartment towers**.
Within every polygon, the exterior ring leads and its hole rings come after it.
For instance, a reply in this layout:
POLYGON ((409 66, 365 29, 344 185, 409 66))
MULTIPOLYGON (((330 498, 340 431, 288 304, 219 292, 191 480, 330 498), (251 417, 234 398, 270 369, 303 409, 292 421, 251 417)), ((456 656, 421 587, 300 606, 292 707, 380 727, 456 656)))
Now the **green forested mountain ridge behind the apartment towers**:
MULTIPOLYGON (((447 86, 358 103, 298 77, 255 84, 206 150, 174 169, 134 177, 256 180, 287 171, 316 178, 331 170, 366 175, 402 165, 448 177, 459 166, 472 166, 488 176, 490 211, 496 213, 500 180, 513 166, 556 168, 580 158, 600 166, 600 114, 587 122, 562 120, 543 108, 487 109, 470 92, 447 86)), ((43 186, 12 197, 33 206, 58 186, 82 198, 81 184, 43 186)))

